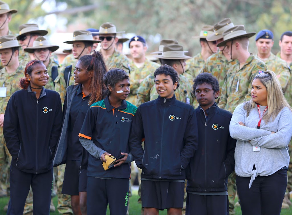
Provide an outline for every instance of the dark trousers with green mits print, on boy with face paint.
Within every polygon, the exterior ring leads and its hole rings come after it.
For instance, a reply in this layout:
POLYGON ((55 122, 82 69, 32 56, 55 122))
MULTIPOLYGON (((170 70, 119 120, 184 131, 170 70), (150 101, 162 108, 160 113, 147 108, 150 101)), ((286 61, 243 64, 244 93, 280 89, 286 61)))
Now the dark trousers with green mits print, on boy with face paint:
POLYGON ((111 215, 125 215, 129 201, 129 179, 99 179, 87 177, 87 214, 103 215, 107 213, 107 204, 111 215))

